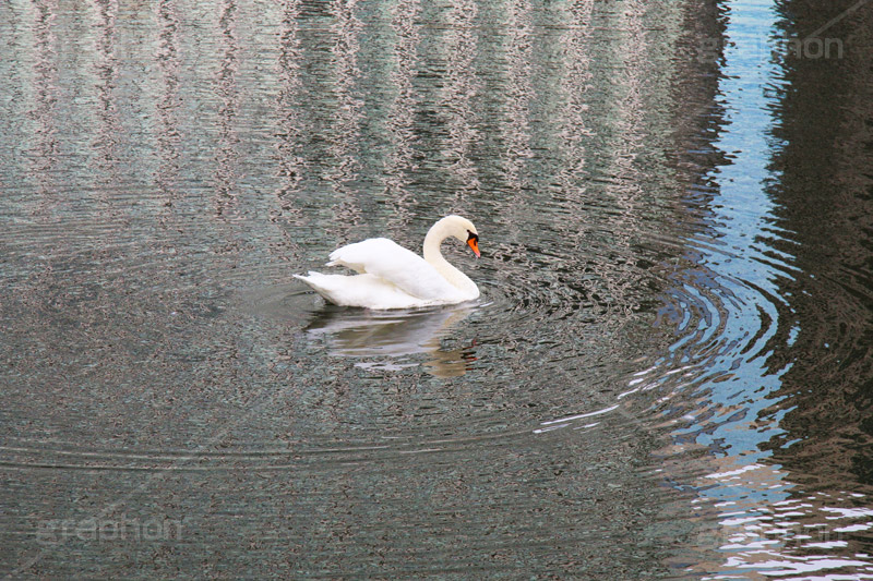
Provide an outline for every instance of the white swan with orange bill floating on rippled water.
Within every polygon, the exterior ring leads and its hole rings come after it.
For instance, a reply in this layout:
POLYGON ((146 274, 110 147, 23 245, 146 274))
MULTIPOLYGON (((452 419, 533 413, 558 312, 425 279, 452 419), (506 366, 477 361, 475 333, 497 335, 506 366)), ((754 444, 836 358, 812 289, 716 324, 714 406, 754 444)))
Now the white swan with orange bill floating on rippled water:
POLYGON ((295 275, 330 302, 368 308, 411 308, 455 304, 479 296, 479 288, 449 264, 440 244, 449 237, 466 242, 479 257, 479 234, 473 222, 446 216, 424 237, 424 257, 386 238, 371 238, 337 249, 327 266, 347 266, 358 275, 295 275))

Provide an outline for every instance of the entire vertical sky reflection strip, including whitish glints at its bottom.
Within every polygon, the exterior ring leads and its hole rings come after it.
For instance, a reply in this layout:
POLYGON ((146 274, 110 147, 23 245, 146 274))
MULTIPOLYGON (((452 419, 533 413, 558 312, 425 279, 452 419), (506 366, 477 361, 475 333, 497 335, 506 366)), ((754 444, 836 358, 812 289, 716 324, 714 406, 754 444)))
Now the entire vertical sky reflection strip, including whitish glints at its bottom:
MULTIPOLYGON (((785 242, 787 233, 778 226, 779 208, 768 193, 768 184, 780 178, 769 167, 784 146, 773 134, 780 122, 775 111, 785 87, 780 64, 785 55, 777 52, 779 47, 773 43, 782 34, 776 26, 776 8, 767 1, 736 1, 726 7, 728 24, 716 104, 722 120, 713 147, 729 162, 717 166, 708 175, 711 238, 702 241, 698 237, 690 243, 698 253, 695 268, 704 268, 716 282, 711 287, 714 296, 696 293, 713 311, 708 325, 702 328, 723 325, 720 337, 752 338, 752 342, 729 344, 723 352, 704 358, 706 375, 695 389, 706 406, 683 417, 689 425, 677 431, 674 438, 684 443, 679 448, 703 447, 711 455, 710 472, 693 485, 703 500, 701 510, 714 510, 719 522, 718 530, 709 534, 725 559, 720 567, 727 578, 763 573, 775 578, 824 574, 826 579, 830 570, 845 573, 865 565, 851 557, 832 556, 828 548, 847 546, 845 531, 852 526, 864 530, 869 524, 804 525, 794 519, 808 517, 806 510, 823 516, 851 512, 861 519, 870 511, 828 508, 830 498, 835 503, 863 498, 846 492, 833 497, 812 495, 808 503, 792 499, 797 485, 790 472, 769 460, 773 450, 767 444, 786 434, 780 422, 793 409, 780 407, 785 396, 778 395, 782 377, 793 364, 774 367, 768 360, 774 347, 790 348, 799 331, 793 308, 779 283, 806 275, 793 266, 792 255, 775 250, 778 244, 774 243, 785 242), (775 344, 780 340, 781 344, 775 344), (717 410, 715 416, 711 408, 717 410), (697 415, 704 421, 698 422, 697 415), (703 508, 705 505, 711 508, 703 508), (792 511, 798 507, 804 508, 792 511), (804 553, 803 547, 811 553, 804 553), (798 548, 801 550, 791 550, 798 548)), ((671 348, 674 356, 687 349, 685 343, 683 340, 671 348)), ((679 358, 679 362, 686 362, 686 358, 679 358)), ((782 441, 781 446, 787 448, 794 441, 782 441)), ((689 568, 692 571, 704 573, 706 568, 689 568)))

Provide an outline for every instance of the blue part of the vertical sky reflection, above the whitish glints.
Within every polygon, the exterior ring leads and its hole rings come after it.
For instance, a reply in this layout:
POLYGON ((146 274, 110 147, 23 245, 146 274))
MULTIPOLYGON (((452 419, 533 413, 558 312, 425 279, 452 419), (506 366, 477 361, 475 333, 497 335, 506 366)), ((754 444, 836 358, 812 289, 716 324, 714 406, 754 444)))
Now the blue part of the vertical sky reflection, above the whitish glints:
POLYGON ((718 383, 705 383, 699 389, 711 390, 713 401, 727 410, 740 404, 746 416, 742 424, 730 423, 702 434, 697 443, 709 446, 722 441, 739 468, 768 456, 758 444, 779 431, 778 417, 770 417, 766 429, 755 429, 752 423, 758 421, 761 411, 778 401, 769 395, 779 389, 779 378, 786 370, 774 373, 768 368, 772 351, 765 346, 775 336, 776 325, 790 322, 782 320, 774 304, 781 301, 775 279, 786 274, 774 268, 757 245, 762 239, 773 237, 768 228, 775 221, 774 203, 765 190, 767 180, 773 178, 767 171, 773 155, 768 135, 775 122, 768 113, 773 97, 767 97, 765 86, 778 82, 779 75, 770 55, 750 49, 750 45, 773 34, 775 14, 765 1, 731 2, 728 7, 727 48, 717 104, 723 111, 723 125, 713 146, 728 154, 731 161, 708 177, 715 186, 710 204, 713 238, 709 245, 695 250, 701 253, 698 264, 711 271, 719 282, 716 289, 725 293, 721 304, 714 308, 714 316, 723 320, 714 320, 709 326, 723 325, 721 337, 751 336, 756 341, 752 346, 740 344, 746 353, 728 349, 707 363, 709 372, 723 370, 730 378, 719 376, 718 383), (767 319, 773 322, 769 328, 767 319))

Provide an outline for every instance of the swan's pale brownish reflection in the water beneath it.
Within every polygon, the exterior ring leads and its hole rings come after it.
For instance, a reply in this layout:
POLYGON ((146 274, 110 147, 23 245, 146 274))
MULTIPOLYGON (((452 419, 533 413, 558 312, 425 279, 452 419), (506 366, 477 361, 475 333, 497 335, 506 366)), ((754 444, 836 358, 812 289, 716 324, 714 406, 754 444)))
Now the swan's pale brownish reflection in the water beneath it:
POLYGON ((412 355, 426 353, 424 368, 436 377, 457 377, 475 361, 473 346, 442 349, 441 340, 467 318, 476 305, 404 311, 368 311, 326 305, 306 332, 325 342, 334 355, 358 358, 364 368, 399 370, 418 365, 412 355))

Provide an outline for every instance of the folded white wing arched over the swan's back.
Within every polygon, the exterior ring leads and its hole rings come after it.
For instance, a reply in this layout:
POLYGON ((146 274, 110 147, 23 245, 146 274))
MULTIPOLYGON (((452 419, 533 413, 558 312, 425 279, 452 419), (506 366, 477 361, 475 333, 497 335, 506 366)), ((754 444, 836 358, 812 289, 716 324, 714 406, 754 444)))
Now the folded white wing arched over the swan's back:
POLYGON ((426 301, 458 293, 424 258, 386 238, 371 238, 331 253, 328 266, 342 265, 374 275, 399 290, 426 301))

